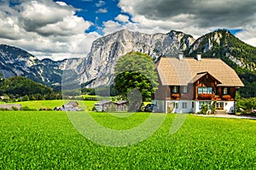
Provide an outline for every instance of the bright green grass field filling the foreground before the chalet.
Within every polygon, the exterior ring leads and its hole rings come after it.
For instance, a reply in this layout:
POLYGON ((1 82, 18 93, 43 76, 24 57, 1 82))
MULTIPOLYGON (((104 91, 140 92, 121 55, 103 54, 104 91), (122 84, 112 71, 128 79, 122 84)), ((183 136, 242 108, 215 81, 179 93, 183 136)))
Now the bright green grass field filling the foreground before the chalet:
MULTIPOLYGON (((114 129, 136 127, 148 117, 90 114, 114 129)), ((85 139, 65 112, 0 111, 0 169, 256 168, 255 121, 189 115, 170 134, 174 118, 167 115, 160 129, 141 143, 113 148, 85 139)))

